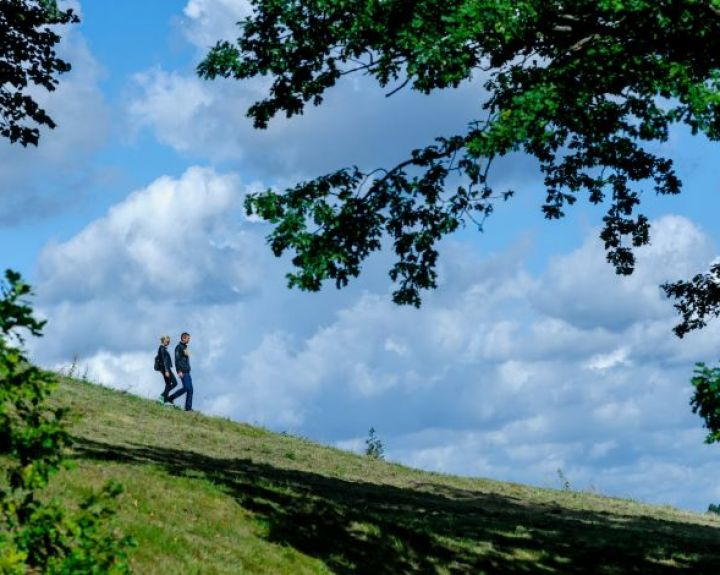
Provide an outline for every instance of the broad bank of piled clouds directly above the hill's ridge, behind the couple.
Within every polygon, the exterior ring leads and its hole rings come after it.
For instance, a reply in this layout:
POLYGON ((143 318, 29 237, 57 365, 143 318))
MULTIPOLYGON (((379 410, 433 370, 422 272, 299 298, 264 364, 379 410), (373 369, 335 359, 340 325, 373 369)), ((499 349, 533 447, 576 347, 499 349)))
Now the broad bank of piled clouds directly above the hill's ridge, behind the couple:
POLYGON ((714 357, 718 327, 678 340, 657 292, 711 253, 697 226, 656 221, 631 278, 602 272, 595 239, 539 275, 518 250, 480 260, 446 242, 442 286, 416 310, 391 303, 372 265, 349 292, 286 290, 267 226, 243 216, 249 189, 191 168, 48 245, 33 357, 77 353, 91 378, 154 395, 157 340, 187 329, 209 413, 359 449, 374 426, 389 458, 439 471, 559 486, 561 469, 578 489, 713 500, 720 470, 687 379, 714 357))

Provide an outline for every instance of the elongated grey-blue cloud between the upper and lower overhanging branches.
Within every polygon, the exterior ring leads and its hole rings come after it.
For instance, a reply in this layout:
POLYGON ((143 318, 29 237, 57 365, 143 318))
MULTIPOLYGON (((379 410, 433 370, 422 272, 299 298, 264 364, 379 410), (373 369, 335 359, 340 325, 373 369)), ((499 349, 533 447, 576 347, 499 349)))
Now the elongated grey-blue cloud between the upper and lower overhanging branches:
POLYGON ((370 79, 357 78, 331 90, 322 107, 276 117, 267 130, 255 130, 246 111, 266 94, 265 80, 206 81, 156 68, 137 74, 135 82, 128 114, 136 132, 149 129, 178 152, 229 162, 264 179, 315 176, 353 164, 389 167, 436 136, 462 131, 479 112, 474 84, 433 97, 401 92, 388 99, 370 79))

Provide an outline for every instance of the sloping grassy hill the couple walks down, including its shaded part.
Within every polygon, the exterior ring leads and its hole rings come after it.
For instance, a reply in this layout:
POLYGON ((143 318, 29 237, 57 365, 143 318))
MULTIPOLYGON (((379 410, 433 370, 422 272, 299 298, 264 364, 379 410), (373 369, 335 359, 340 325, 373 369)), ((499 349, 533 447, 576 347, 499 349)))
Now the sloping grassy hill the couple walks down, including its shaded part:
MULTIPOLYGON (((115 478, 136 573, 720 573, 720 518, 421 472, 65 380, 78 499, 115 478)), ((720 480, 720 478, 719 478, 720 480)))

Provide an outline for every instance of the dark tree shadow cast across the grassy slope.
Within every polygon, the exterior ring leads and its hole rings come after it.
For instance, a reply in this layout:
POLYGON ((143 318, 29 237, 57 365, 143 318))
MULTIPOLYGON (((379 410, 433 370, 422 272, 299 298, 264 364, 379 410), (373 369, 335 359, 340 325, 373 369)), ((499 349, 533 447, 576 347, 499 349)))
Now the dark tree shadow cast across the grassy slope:
POLYGON ((427 483, 347 481, 249 459, 77 440, 77 457, 202 476, 268 526, 269 540, 339 575, 713 574, 720 528, 568 510, 427 483))

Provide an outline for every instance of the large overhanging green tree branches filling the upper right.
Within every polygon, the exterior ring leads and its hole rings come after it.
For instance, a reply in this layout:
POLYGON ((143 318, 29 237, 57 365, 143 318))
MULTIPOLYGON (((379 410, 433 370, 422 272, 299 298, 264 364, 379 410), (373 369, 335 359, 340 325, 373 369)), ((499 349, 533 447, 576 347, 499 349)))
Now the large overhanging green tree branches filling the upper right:
MULTIPOLYGON (((388 95, 473 78, 486 94, 463 133, 440 134, 397 165, 339 169, 248 198, 249 212, 275 224, 274 253, 294 253, 289 283, 303 289, 327 279, 346 285, 389 239, 394 300, 419 305, 421 290, 436 285, 438 240, 481 225, 512 195, 488 177, 493 161, 511 152, 539 162, 546 218, 562 217, 581 197, 607 206, 600 233, 607 258, 630 274, 633 248, 649 241, 642 193, 681 190, 672 160, 655 144, 677 123, 720 138, 720 0, 252 4, 237 41, 218 42, 198 73, 269 78, 266 97, 248 110, 257 128, 280 112, 321 104, 349 74, 372 76, 388 95)), ((664 286, 684 306, 680 336, 720 313, 720 298, 705 305, 703 278, 664 286)))

